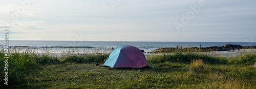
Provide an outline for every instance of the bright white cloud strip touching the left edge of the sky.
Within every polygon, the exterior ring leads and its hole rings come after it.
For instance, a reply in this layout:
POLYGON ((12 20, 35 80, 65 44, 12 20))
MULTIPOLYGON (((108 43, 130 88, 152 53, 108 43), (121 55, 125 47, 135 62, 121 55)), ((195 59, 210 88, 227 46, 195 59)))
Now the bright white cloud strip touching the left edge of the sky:
POLYGON ((42 25, 45 21, 18 21, 18 20, 0 20, 0 28, 23 27, 26 29, 38 30, 38 25, 42 25))

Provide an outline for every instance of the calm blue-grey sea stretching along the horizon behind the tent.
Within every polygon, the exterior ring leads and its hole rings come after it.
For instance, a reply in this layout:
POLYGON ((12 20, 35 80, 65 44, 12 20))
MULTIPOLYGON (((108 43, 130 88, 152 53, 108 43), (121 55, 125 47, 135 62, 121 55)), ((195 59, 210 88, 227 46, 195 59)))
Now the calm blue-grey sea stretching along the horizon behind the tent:
MULTIPOLYGON (((172 42, 172 41, 47 41, 47 40, 9 40, 9 48, 42 49, 52 48, 57 52, 68 50, 93 50, 111 49, 119 46, 129 45, 137 47, 145 52, 151 52, 159 48, 187 48, 187 47, 212 47, 224 46, 229 42, 172 42)), ((241 46, 256 46, 256 42, 231 42, 241 46)), ((4 46, 4 41, 1 42, 4 46)))

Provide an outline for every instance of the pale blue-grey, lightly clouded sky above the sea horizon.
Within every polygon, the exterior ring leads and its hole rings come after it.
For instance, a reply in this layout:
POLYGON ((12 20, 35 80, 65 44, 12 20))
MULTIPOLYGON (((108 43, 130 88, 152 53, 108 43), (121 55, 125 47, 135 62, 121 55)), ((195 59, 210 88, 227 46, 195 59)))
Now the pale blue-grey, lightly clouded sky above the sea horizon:
POLYGON ((11 0, 0 40, 256 41, 256 1, 11 0))

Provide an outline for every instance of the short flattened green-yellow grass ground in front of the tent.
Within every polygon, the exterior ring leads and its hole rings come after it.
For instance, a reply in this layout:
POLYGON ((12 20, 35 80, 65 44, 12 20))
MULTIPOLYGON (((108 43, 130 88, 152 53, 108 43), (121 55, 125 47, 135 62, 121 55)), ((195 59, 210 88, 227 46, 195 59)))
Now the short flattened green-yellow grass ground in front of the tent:
POLYGON ((255 88, 250 65, 164 62, 155 69, 112 69, 95 63, 64 63, 33 69, 27 88, 255 88), (162 68, 162 69, 159 69, 162 68))

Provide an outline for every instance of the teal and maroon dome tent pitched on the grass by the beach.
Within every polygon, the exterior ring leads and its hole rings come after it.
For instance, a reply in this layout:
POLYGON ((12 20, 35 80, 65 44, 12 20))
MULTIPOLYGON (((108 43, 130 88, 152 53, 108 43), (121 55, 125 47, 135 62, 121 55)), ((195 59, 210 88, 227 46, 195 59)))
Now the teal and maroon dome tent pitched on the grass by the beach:
POLYGON ((103 64, 111 68, 143 68, 148 66, 145 55, 136 47, 120 46, 114 49, 103 64))

